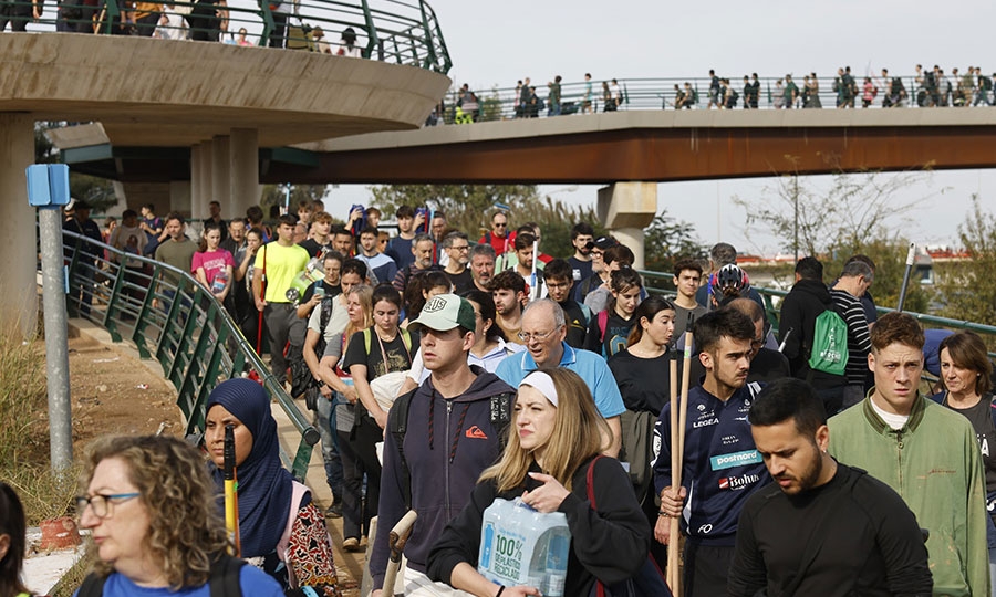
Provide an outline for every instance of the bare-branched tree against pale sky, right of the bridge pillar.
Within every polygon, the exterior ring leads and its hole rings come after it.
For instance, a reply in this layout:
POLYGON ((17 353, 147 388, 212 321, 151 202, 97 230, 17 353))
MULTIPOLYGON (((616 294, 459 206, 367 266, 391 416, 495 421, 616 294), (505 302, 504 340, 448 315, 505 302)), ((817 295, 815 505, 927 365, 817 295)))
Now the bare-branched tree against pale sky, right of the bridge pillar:
MULTIPOLYGON (((793 160, 790 156, 786 159, 793 160)), ((922 187, 930 170, 900 174, 860 172, 832 175, 822 191, 812 179, 797 174, 779 176, 757 198, 734 196, 745 209, 746 230, 781 239, 780 249, 802 255, 861 252, 867 239, 884 239, 889 230, 910 221, 909 212, 946 189, 914 199, 900 191, 922 187), (798 241, 796 237, 798 234, 798 241)))

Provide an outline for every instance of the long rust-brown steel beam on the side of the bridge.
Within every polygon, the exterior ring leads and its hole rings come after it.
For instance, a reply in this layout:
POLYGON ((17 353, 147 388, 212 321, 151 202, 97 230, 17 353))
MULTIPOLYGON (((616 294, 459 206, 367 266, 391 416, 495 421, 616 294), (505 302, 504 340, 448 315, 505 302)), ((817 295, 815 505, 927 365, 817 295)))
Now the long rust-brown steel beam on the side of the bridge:
MULTIPOLYGON (((474 125, 471 125, 474 126, 474 125)), ((267 178, 343 184, 610 184, 996 167, 996 124, 623 128, 321 154, 267 178)), ((270 180, 264 180, 270 181, 270 180)))

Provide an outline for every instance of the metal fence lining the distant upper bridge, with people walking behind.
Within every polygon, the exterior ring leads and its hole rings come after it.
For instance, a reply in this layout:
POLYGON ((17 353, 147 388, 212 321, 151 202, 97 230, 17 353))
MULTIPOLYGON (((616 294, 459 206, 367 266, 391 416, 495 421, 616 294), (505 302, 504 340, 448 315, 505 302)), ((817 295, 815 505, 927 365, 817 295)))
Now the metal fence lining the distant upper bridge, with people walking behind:
MULTIPOLYGON (((899 86, 893 88, 892 82, 883 81, 879 76, 873 76, 872 85, 876 88, 869 107, 932 107, 932 106, 969 106, 978 103, 979 105, 989 105, 993 102, 992 86, 978 93, 978 86, 968 88, 961 84, 961 81, 951 80, 951 90, 941 92, 936 87, 925 86, 922 80, 915 76, 899 76, 899 86), (901 87, 901 88, 900 88, 901 87)), ((782 88, 778 82, 784 80, 779 76, 758 77, 758 109, 777 109, 786 105, 782 88)), ((796 85, 799 87, 799 94, 795 103, 789 102, 792 108, 836 108, 839 100, 843 98, 834 90, 834 77, 823 76, 816 77, 816 88, 803 93, 805 80, 803 75, 799 75, 796 85)), ((679 96, 688 97, 687 104, 679 109, 704 109, 709 107, 709 87, 710 78, 681 78, 681 77, 661 77, 661 78, 620 78, 619 85, 619 105, 605 101, 602 83, 611 83, 612 80, 592 80, 587 82, 570 82, 560 84, 560 115, 580 114, 585 111, 585 104, 590 104, 591 112, 605 112, 606 105, 610 109, 631 111, 631 109, 676 109, 675 102, 679 96), (686 84, 687 83, 687 87, 686 84), (590 92, 589 92, 590 90, 590 92), (687 90, 687 91, 686 91, 687 90)), ((552 111, 550 94, 550 81, 537 81, 531 86, 536 88, 538 102, 535 104, 523 105, 520 91, 516 87, 494 87, 491 90, 467 90, 474 92, 477 100, 476 106, 471 104, 471 109, 465 111, 463 105, 466 104, 466 92, 460 88, 453 90, 446 97, 445 104, 440 111, 437 111, 435 117, 437 123, 444 124, 466 124, 468 122, 484 121, 501 121, 508 118, 530 118, 530 117, 550 117, 556 114, 552 111), (459 109, 458 109, 459 108, 459 109)), ((858 84, 857 95, 851 95, 852 101, 849 107, 862 108, 863 95, 863 76, 857 76, 858 84)), ((992 84, 989 84, 992 85, 992 84)), ((729 81, 729 100, 732 109, 744 109, 745 88, 743 75, 733 77, 729 81)))

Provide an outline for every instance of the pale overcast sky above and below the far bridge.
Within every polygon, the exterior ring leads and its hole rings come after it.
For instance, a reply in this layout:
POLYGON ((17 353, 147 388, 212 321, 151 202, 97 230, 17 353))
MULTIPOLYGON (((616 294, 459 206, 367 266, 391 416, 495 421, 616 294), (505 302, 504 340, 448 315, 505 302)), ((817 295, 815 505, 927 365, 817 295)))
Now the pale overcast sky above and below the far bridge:
MULTIPOLYGON (((749 72, 797 73, 801 78, 815 71, 826 77, 827 86, 831 73, 843 65, 859 75, 882 67, 909 75, 916 63, 938 64, 948 73, 969 64, 996 71, 996 62, 986 62, 993 60, 996 46, 996 2, 990 1, 429 3, 453 59, 450 78, 479 90, 515 86, 526 76, 538 87, 557 74, 564 82, 577 82, 585 72, 601 81, 704 77, 709 69, 732 78, 749 72)), ((744 211, 729 201, 734 195, 760 196, 769 185, 765 180, 662 184, 658 209, 695 224, 708 244, 724 240, 741 252, 775 254, 775 239, 747 238, 744 211)), ((911 189, 909 198, 940 189, 944 195, 914 212, 921 223, 907 232, 920 243, 955 242, 974 192, 989 211, 996 209, 996 176, 989 170, 935 172, 924 187, 928 188, 911 189)), ((541 188, 575 205, 594 203, 598 191, 594 186, 563 189, 541 188)), ((363 187, 342 187, 332 191, 329 207, 345 211, 354 201, 365 202, 365 197, 363 187)))

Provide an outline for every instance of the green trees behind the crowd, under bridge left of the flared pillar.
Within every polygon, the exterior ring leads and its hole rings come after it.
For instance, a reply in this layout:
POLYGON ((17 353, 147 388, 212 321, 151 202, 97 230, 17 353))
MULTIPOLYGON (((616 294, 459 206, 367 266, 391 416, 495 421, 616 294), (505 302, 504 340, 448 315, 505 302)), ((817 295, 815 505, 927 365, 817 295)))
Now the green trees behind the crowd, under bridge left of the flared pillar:
POLYGON ((570 256, 571 228, 577 222, 591 223, 596 232, 594 210, 590 207, 568 207, 560 200, 541 197, 532 185, 394 185, 371 187, 373 205, 385 214, 394 213, 398 206, 426 206, 446 214, 448 224, 463 230, 477 241, 491 226, 491 214, 499 209, 509 212, 515 229, 526 222, 536 222, 542 231, 542 250, 553 256, 570 256))

